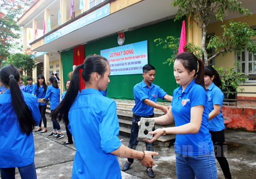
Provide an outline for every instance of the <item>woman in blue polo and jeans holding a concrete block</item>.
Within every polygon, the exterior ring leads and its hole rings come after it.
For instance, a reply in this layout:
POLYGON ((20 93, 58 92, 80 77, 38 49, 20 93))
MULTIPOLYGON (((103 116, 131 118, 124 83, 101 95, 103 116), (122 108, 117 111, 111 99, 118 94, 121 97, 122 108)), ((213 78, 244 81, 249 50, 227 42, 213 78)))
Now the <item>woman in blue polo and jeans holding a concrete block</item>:
POLYGON ((174 77, 180 85, 174 91, 171 107, 155 123, 176 127, 157 129, 154 142, 160 135, 177 134, 175 140, 177 178, 217 178, 213 143, 208 130, 207 92, 204 84, 204 63, 192 53, 175 57, 174 77))

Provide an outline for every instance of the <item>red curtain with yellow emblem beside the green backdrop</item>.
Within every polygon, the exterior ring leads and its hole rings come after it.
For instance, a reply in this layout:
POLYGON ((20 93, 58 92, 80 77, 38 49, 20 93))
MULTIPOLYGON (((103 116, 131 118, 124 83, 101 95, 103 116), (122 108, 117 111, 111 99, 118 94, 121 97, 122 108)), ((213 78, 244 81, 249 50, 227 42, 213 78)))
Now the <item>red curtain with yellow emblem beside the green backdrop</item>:
MULTIPOLYGON (((73 65, 81 65, 84 63, 85 54, 84 54, 84 45, 76 46, 73 49, 73 65)), ((79 71, 80 73, 80 91, 84 89, 85 83, 82 79, 82 69, 79 71)))

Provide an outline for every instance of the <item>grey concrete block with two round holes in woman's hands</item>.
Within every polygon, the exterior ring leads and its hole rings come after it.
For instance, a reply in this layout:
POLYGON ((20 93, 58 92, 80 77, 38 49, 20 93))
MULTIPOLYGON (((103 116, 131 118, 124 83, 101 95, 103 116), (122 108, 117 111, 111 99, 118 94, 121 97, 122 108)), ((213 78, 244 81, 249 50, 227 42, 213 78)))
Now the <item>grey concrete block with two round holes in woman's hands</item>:
POLYGON ((155 120, 152 118, 141 118, 141 123, 139 125, 138 140, 143 141, 143 139, 151 140, 153 138, 152 134, 148 134, 153 130, 155 126, 155 120))

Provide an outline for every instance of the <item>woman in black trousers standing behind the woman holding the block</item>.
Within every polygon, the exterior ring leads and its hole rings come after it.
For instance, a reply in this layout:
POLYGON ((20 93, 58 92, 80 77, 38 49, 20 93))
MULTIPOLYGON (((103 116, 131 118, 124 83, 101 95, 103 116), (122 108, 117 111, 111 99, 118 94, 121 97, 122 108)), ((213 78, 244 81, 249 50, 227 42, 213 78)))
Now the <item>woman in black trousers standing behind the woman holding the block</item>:
POLYGON ((224 156, 223 143, 225 142, 225 125, 222 115, 222 102, 224 95, 221 91, 221 79, 218 72, 212 66, 205 66, 204 82, 208 95, 208 112, 209 112, 209 133, 212 135, 214 152, 218 163, 221 166, 225 178, 230 179, 229 163, 224 156))

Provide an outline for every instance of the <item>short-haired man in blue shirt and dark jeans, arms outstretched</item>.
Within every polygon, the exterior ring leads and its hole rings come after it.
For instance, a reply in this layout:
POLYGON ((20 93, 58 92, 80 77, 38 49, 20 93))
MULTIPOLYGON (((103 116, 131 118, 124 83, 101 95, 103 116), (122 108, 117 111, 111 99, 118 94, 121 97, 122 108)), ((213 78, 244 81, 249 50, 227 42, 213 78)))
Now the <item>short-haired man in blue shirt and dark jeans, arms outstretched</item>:
MULTIPOLYGON (((154 108, 161 109, 164 113, 167 114, 170 107, 156 104, 158 97, 160 97, 162 100, 167 100, 170 102, 172 101, 172 96, 167 95, 167 92, 164 92, 159 86, 152 83, 155 79, 154 66, 149 64, 143 66, 143 77, 144 79, 142 82, 136 84, 133 88, 135 106, 133 108, 133 123, 131 125, 131 136, 128 147, 134 150, 138 145, 138 122, 141 120, 141 117, 154 117, 154 108)), ((146 150, 154 151, 154 143, 146 142, 146 150)), ((133 161, 134 159, 128 159, 128 161, 123 166, 123 171, 127 171, 133 161)), ((147 168, 146 172, 149 177, 155 177, 155 173, 152 168, 147 168)))

